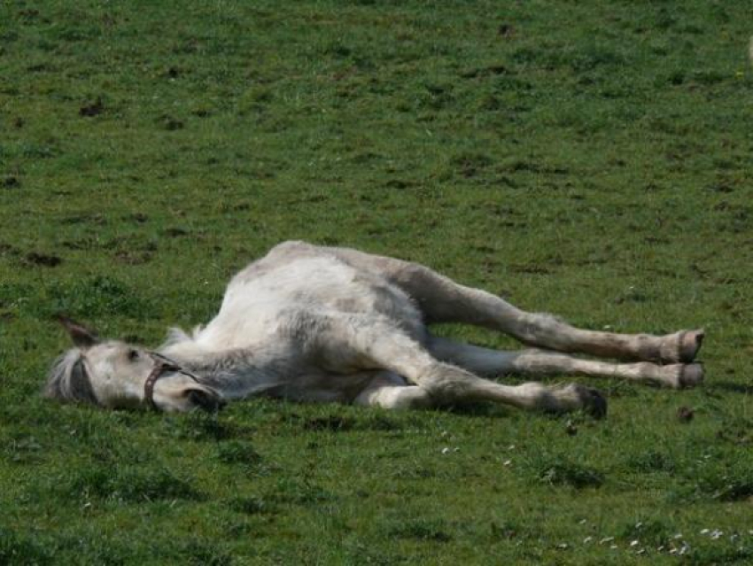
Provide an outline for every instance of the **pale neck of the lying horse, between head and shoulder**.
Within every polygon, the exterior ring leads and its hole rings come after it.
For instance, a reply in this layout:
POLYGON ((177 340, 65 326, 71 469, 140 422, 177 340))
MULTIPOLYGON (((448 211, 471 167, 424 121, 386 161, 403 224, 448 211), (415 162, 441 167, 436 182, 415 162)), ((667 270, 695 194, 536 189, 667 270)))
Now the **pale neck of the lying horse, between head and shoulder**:
POLYGON ((225 399, 272 393, 283 375, 250 350, 208 351, 196 343, 170 345, 160 351, 225 399))

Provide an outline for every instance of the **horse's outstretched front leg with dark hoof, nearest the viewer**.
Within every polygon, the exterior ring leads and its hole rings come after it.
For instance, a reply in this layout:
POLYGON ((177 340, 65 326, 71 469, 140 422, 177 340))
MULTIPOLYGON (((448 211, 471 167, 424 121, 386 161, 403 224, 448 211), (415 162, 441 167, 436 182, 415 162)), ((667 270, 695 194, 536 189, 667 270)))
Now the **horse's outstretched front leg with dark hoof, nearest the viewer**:
POLYGON ((386 369, 417 385, 437 404, 495 401, 524 409, 606 414, 601 393, 582 385, 503 385, 434 358, 388 320, 362 314, 319 317, 310 354, 329 371, 386 369))

